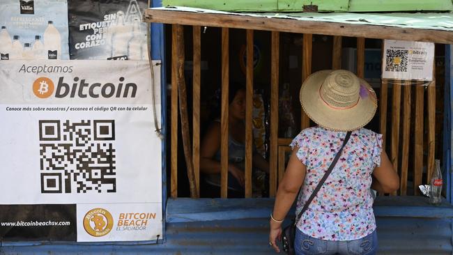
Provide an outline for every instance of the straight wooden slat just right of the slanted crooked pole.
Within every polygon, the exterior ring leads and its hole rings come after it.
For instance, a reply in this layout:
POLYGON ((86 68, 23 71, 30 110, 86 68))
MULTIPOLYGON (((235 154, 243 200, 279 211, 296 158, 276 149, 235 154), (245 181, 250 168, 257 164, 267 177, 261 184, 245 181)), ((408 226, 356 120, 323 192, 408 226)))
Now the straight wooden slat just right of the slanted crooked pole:
POLYGON ((198 196, 200 195, 200 76, 201 76, 201 27, 193 27, 194 40, 194 70, 193 70, 193 106, 192 106, 192 125, 193 125, 193 160, 194 173, 197 185, 198 196))

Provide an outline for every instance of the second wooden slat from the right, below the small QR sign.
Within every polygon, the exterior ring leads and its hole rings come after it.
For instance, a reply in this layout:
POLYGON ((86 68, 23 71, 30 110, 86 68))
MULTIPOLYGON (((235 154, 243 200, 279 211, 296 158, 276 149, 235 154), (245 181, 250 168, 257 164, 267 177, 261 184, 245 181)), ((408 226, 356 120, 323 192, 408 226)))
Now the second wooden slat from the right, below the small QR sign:
POLYGON ((414 190, 417 194, 418 186, 422 184, 423 174, 423 104, 424 86, 420 83, 415 86, 415 134, 414 134, 414 190))

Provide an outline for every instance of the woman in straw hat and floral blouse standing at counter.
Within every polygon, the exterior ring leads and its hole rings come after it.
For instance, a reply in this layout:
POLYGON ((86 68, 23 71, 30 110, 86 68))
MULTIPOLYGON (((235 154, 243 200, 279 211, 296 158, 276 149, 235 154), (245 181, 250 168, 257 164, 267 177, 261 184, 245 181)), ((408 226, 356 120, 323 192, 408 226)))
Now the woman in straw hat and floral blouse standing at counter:
POLYGON ((270 215, 269 245, 279 252, 283 219, 298 196, 296 215, 307 207, 296 224, 296 254, 376 254, 370 188, 382 193, 399 188, 382 135, 363 128, 376 113, 376 94, 352 72, 322 70, 302 84, 300 103, 318 126, 302 130, 290 145, 293 153, 270 215))

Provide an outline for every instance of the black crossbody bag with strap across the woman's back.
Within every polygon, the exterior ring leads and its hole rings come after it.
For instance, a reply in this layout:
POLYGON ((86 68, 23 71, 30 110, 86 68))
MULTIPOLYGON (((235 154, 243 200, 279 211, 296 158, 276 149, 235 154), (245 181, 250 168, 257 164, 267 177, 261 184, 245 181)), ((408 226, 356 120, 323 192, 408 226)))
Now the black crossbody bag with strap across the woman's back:
MULTIPOLYGON (((324 173, 323 178, 319 181, 318 185, 314 189, 312 195, 309 197, 307 202, 305 203, 304 207, 302 210, 300 210, 299 214, 297 217, 295 217, 289 226, 285 226, 283 229, 282 233, 282 247, 284 252, 289 255, 295 254, 294 250, 294 240, 295 240, 295 228, 300 220, 300 217, 302 217, 302 214, 307 210, 308 206, 310 203, 312 203, 312 200, 314 199, 314 196, 318 193, 319 190, 321 190, 321 186, 324 184, 325 180, 329 177, 330 173, 332 172, 333 168, 335 167, 335 164, 337 164, 337 161, 339 159, 339 156, 341 155, 341 151, 343 151, 344 146, 348 143, 349 137, 351 137, 351 131, 346 133, 346 137, 344 137, 343 145, 339 149, 337 155, 335 155, 334 160, 332 163, 330 163, 330 167, 328 170, 324 173)), ((300 190, 299 190, 300 193, 300 190)))

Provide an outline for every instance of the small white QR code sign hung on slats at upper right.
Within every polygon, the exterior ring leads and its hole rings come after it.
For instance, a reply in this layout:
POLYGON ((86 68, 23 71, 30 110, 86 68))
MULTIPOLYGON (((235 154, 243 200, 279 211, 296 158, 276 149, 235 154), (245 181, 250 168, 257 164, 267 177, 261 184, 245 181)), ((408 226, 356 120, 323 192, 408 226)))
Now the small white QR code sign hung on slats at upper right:
POLYGON ((401 80, 433 79, 434 44, 385 40, 383 54, 383 78, 401 80))

